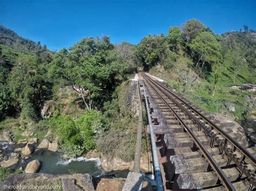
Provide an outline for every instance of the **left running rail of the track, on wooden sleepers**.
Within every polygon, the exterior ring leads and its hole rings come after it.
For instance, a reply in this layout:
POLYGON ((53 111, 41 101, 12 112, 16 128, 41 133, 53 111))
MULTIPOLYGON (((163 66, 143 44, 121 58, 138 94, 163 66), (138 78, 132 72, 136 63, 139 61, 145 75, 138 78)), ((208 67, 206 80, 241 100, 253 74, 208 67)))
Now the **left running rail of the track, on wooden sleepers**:
POLYGON ((150 86, 154 89, 154 91, 156 91, 156 93, 159 95, 159 97, 161 98, 161 100, 166 104, 166 106, 173 112, 174 116, 179 120, 179 122, 184 126, 184 128, 186 129, 186 131, 190 134, 190 136, 193 138, 194 142, 197 144, 197 146, 199 147, 200 151, 203 153, 204 157, 206 158, 206 160, 208 161, 208 163, 210 164, 210 166, 212 167, 213 171, 217 173, 219 179, 221 180, 221 182, 223 183, 223 186, 225 188, 227 188, 228 190, 236 190, 234 188, 234 186, 232 185, 230 179, 226 176, 226 174, 223 172, 223 170, 220 168, 220 166, 217 164, 217 162, 213 159, 212 155, 207 151, 207 148, 203 145, 203 143, 200 142, 200 140, 198 139, 198 137, 194 134, 194 132, 190 129, 190 127, 184 122, 183 119, 181 119, 181 117, 177 114, 176 111, 174 111, 172 109, 172 107, 170 107, 170 104, 167 103, 165 101, 165 99, 163 98, 163 96, 161 96, 158 91, 156 90, 156 86, 153 85, 152 83, 150 83, 149 81, 147 81, 150 86), (155 86, 156 88, 154 88, 153 86, 155 86))

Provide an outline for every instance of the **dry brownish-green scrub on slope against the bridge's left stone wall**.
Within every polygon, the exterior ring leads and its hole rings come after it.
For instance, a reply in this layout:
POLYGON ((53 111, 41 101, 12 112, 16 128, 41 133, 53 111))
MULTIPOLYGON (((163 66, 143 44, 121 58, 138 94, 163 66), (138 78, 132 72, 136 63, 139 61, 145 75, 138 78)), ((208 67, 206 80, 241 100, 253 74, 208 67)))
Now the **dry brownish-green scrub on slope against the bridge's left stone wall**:
POLYGON ((134 157, 138 117, 127 106, 129 81, 123 82, 113 93, 113 100, 105 102, 104 117, 109 129, 97 139, 97 149, 104 154, 115 155, 125 161, 134 157))

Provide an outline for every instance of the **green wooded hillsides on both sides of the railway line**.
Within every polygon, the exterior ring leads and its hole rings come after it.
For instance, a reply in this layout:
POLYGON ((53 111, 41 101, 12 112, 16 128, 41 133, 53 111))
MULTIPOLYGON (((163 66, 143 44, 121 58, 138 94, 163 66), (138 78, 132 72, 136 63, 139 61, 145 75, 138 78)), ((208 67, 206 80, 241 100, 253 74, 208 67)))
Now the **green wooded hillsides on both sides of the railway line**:
POLYGON ((138 45, 90 37, 58 52, 1 26, 0 129, 17 140, 24 131, 42 140, 50 129, 65 153, 97 150, 130 161, 137 125, 124 101, 130 74, 143 68, 205 110, 245 119, 255 116, 255 93, 230 87, 256 83, 255 51, 248 27, 216 35, 197 19, 138 45))

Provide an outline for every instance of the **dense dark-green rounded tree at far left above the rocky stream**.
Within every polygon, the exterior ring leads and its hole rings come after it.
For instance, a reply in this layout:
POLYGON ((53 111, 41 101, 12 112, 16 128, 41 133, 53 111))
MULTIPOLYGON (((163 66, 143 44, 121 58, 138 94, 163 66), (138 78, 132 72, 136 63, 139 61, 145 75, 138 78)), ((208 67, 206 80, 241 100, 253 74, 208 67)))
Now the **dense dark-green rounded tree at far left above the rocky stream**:
POLYGON ((45 71, 37 56, 20 55, 8 77, 12 105, 25 117, 36 119, 45 93, 45 71))

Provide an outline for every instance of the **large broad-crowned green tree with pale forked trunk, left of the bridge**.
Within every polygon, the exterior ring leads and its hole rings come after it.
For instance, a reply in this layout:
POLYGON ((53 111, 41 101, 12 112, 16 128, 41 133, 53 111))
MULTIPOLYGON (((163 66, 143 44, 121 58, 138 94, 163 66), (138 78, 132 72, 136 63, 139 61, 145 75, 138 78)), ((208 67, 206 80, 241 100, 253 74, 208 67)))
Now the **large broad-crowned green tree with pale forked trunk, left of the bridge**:
POLYGON ((63 48, 55 55, 49 64, 49 76, 66 79, 91 110, 92 100, 107 94, 115 86, 115 77, 127 66, 118 66, 113 49, 108 37, 84 38, 69 51, 63 48))

